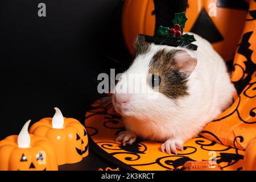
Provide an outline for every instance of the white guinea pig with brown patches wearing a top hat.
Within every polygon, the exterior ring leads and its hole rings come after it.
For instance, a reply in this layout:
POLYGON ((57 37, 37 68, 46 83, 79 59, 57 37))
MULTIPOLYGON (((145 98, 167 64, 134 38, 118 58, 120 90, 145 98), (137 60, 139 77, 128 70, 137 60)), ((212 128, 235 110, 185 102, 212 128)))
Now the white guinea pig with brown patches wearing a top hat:
POLYGON ((117 141, 131 144, 140 137, 163 142, 163 152, 177 154, 184 142, 232 104, 235 89, 224 60, 207 40, 193 35, 197 51, 148 44, 137 37, 133 63, 112 94, 126 128, 117 141), (129 76, 138 73, 146 75, 139 85, 147 92, 127 92, 136 87, 129 84, 129 76))

